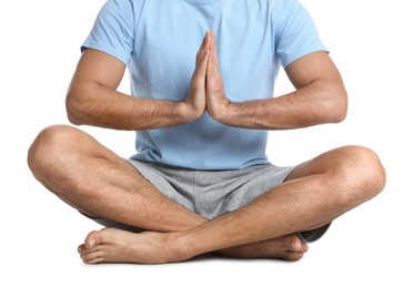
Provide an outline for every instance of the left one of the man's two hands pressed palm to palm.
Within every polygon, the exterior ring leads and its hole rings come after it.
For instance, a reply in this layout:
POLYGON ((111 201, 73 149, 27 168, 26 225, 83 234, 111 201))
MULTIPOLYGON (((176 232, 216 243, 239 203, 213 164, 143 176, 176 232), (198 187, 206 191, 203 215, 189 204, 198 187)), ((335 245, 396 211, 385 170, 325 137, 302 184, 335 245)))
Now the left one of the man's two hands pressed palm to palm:
POLYGON ((206 32, 197 53, 195 71, 192 74, 189 95, 184 99, 188 117, 194 121, 206 110, 206 68, 210 58, 211 32, 206 32))

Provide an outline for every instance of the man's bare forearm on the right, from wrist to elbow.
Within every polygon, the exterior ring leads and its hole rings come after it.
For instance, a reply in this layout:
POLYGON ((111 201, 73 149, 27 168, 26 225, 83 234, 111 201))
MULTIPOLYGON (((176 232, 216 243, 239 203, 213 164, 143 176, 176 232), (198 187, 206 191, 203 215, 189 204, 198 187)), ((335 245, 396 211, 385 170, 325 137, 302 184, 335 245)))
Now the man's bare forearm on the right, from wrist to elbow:
POLYGON ((218 121, 229 125, 256 130, 289 130, 336 123, 346 114, 343 90, 314 83, 279 97, 232 102, 218 121))

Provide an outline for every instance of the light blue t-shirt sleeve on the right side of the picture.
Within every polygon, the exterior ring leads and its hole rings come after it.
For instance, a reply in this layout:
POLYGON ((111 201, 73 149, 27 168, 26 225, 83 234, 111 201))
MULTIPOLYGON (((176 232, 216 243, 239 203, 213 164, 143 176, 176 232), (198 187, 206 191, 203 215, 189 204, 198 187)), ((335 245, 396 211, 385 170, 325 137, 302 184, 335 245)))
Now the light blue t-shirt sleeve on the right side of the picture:
POLYGON ((285 68, 315 51, 326 51, 309 12, 298 0, 284 0, 281 17, 274 22, 275 54, 285 68))

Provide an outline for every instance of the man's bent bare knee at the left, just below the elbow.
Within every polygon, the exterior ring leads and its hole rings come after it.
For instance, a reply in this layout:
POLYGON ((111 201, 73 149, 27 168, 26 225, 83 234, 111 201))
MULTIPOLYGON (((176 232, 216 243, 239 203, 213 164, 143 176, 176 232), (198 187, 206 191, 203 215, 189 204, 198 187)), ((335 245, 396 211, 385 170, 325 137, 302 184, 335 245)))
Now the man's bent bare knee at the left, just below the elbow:
POLYGON ((63 155, 62 148, 71 141, 74 128, 66 125, 49 126, 41 131, 28 151, 28 165, 38 174, 52 169, 63 155))

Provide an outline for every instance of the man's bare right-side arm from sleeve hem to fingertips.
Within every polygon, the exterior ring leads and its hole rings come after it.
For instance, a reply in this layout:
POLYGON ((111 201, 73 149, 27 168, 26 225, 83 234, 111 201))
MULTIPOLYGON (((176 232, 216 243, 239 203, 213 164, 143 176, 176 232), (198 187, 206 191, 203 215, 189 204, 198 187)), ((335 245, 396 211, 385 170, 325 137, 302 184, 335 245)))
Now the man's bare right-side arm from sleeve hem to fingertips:
POLYGON ((212 65, 206 75, 208 110, 212 117, 225 125, 285 130, 336 123, 346 115, 344 84, 326 52, 308 54, 286 66, 286 74, 296 88, 295 92, 250 102, 230 103, 224 96, 216 52, 211 53, 210 63, 212 65))

